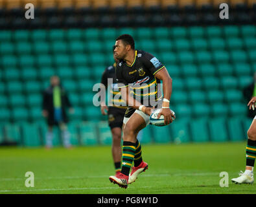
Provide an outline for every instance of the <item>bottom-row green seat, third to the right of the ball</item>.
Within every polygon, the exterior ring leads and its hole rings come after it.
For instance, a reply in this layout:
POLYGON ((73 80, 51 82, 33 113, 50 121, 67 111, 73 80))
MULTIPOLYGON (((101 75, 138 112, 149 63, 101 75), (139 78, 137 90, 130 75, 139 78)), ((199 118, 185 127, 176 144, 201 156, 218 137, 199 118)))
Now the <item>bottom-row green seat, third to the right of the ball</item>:
POLYGON ((209 120, 209 134, 212 142, 226 142, 228 140, 226 120, 224 118, 209 120))

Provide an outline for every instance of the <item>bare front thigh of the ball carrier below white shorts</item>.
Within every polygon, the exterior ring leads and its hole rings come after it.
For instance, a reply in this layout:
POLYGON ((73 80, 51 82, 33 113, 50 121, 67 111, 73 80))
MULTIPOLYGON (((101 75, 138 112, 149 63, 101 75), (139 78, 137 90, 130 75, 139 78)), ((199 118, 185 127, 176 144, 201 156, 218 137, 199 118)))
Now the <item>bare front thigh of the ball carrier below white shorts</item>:
POLYGON ((141 129, 146 127, 145 119, 138 113, 132 114, 128 122, 124 125, 124 133, 137 134, 141 129))

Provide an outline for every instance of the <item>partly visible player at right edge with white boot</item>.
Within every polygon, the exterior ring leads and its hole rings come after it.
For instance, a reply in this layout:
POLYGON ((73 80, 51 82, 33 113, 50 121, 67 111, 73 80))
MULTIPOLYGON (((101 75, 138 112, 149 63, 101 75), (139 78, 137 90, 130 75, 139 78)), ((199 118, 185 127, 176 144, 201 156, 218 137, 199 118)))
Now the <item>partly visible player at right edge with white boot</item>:
MULTIPOLYGON (((255 109, 256 96, 248 103, 249 109, 255 109)), ((240 171, 239 177, 231 179, 235 184, 253 184, 253 167, 256 158, 256 116, 247 132, 248 140, 246 146, 246 170, 240 171)))

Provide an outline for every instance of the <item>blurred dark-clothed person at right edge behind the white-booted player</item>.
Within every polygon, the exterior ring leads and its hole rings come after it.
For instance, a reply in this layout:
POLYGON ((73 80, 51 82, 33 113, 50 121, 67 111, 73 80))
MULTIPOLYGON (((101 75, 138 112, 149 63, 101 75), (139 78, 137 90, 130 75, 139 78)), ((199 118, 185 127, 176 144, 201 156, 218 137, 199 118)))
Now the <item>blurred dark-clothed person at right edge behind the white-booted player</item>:
MULTIPOLYGON (((251 98, 256 96, 256 72, 254 73, 254 81, 244 88, 243 94, 246 99, 246 103, 250 102, 251 98)), ((254 118, 256 115, 256 111, 248 109, 248 117, 254 118)))

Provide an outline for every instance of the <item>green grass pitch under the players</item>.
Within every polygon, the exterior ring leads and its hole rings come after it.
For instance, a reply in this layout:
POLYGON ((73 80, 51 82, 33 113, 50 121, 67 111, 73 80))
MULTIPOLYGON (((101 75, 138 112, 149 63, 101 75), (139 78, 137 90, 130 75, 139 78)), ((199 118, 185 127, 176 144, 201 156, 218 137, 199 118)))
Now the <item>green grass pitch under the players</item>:
POLYGON ((246 142, 152 144, 143 146, 148 170, 127 189, 108 180, 114 174, 111 146, 0 148, 0 193, 255 193, 254 185, 231 182, 244 170, 246 142), (25 173, 34 173, 34 188, 25 173), (221 188, 221 171, 229 186, 221 188))

